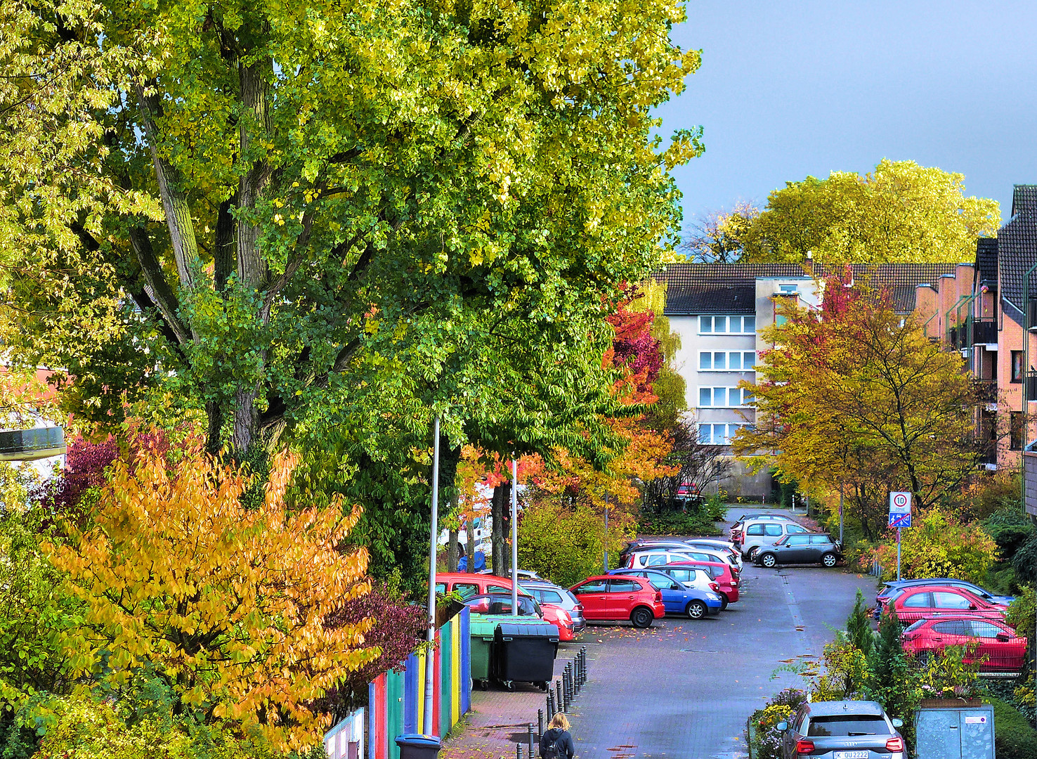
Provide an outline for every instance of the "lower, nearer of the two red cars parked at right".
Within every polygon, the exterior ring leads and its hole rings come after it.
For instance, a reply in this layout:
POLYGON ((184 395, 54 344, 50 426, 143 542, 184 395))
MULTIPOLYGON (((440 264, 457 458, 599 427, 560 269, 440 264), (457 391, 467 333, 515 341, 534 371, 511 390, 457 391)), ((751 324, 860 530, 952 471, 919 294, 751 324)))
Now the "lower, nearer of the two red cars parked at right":
POLYGON ((902 643, 905 653, 923 657, 946 646, 963 646, 965 662, 982 662, 982 672, 1019 672, 1027 655, 1026 638, 1005 622, 975 615, 920 619, 904 630, 902 643))

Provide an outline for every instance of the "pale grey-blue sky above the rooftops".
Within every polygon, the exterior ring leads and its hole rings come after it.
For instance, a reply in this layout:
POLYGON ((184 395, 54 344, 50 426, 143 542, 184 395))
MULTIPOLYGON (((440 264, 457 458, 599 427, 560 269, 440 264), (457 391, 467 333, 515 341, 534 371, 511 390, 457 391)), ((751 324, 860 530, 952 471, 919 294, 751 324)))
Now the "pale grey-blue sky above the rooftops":
POLYGON ((1037 184, 1037 2, 689 0, 673 30, 702 50, 662 133, 701 124, 674 170, 684 229, 786 181, 884 158, 964 174, 968 195, 1037 184))

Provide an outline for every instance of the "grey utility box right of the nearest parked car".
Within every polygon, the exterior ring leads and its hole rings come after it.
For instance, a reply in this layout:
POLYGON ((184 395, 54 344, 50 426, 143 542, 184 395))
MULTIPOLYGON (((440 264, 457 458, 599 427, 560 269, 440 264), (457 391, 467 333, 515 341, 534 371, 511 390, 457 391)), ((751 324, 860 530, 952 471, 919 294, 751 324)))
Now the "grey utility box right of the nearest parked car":
POLYGON ((918 759, 993 759, 991 706, 923 707, 915 725, 918 759))

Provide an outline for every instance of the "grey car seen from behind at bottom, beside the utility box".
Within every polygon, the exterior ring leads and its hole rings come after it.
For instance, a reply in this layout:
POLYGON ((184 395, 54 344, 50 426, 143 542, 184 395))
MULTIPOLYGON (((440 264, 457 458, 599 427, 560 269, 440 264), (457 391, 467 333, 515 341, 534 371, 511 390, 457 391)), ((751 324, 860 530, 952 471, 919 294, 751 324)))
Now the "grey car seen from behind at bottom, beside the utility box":
POLYGON ((782 759, 904 759, 900 727, 877 701, 808 702, 778 723, 782 759))

